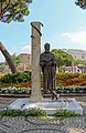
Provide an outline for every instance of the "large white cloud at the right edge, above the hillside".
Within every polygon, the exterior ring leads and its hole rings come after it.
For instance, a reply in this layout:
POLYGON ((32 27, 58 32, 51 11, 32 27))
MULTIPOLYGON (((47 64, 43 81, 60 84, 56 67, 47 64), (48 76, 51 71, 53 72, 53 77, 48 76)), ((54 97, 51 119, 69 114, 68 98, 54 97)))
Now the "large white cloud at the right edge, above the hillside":
POLYGON ((78 32, 64 32, 62 37, 66 37, 74 43, 86 44, 86 30, 78 32))

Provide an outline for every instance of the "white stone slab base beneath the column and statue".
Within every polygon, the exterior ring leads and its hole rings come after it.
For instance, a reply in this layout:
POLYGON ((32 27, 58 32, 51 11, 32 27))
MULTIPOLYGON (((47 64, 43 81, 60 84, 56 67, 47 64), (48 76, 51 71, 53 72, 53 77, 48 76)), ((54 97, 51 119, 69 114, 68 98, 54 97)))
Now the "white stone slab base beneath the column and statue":
POLYGON ((40 108, 44 110, 47 114, 54 114, 56 110, 64 109, 75 111, 75 113, 78 114, 83 114, 83 108, 75 99, 61 99, 54 102, 33 102, 29 99, 18 99, 13 103, 11 103, 9 108, 15 110, 31 110, 33 108, 40 108))

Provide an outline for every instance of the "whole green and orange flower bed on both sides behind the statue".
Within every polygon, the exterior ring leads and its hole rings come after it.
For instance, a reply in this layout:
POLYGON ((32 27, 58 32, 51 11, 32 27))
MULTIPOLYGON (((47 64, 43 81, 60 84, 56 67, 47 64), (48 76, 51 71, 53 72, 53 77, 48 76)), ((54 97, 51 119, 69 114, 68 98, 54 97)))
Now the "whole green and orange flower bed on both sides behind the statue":
MULTIPOLYGON (((1 75, 1 86, 15 86, 15 88, 31 88, 31 72, 17 72, 13 74, 1 75)), ((86 85, 86 73, 57 73, 56 86, 68 85, 86 85)), ((41 88, 43 88, 43 78, 41 81, 41 88)))

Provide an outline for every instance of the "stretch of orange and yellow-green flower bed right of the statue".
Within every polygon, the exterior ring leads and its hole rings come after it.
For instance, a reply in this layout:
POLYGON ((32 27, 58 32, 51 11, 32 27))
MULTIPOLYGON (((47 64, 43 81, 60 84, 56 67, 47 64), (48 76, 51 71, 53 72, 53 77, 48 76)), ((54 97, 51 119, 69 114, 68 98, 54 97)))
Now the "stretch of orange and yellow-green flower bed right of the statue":
POLYGON ((86 85, 86 73, 57 73, 56 85, 86 85))

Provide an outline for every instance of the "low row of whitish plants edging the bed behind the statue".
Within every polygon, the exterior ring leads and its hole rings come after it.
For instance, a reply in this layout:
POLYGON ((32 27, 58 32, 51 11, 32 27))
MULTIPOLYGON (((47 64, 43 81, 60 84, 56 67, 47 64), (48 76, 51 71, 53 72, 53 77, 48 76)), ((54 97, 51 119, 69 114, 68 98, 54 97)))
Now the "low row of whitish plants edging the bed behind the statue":
MULTIPOLYGON (((43 91, 43 89, 41 89, 43 91)), ((56 86, 56 93, 86 93, 86 86, 56 86)), ((31 94, 30 88, 0 88, 0 94, 31 94)))

